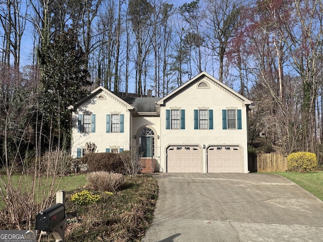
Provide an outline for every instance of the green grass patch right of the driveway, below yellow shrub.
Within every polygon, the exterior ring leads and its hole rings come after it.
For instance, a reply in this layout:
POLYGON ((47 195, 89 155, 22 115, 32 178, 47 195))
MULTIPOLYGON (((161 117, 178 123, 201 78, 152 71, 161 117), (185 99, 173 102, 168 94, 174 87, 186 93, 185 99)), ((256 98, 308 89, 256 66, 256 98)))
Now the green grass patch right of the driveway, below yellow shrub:
POLYGON ((293 181, 307 192, 323 200, 323 171, 299 172, 273 172, 293 181))

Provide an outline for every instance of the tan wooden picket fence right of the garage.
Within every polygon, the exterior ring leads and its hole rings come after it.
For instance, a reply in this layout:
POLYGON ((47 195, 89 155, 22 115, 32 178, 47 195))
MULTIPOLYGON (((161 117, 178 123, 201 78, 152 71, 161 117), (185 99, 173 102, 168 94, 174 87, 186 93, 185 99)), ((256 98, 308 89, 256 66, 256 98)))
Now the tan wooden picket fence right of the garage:
POLYGON ((286 171, 287 157, 279 153, 248 154, 248 170, 250 172, 286 171))

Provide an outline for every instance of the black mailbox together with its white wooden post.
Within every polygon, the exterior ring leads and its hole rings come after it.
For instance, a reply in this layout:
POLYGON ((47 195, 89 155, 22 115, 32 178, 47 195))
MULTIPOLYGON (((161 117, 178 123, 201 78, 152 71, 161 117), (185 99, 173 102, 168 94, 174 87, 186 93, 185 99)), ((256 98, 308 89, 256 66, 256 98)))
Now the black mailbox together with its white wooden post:
POLYGON ((56 242, 65 241, 65 192, 56 193, 56 204, 36 216, 36 229, 42 234, 52 233, 56 242))

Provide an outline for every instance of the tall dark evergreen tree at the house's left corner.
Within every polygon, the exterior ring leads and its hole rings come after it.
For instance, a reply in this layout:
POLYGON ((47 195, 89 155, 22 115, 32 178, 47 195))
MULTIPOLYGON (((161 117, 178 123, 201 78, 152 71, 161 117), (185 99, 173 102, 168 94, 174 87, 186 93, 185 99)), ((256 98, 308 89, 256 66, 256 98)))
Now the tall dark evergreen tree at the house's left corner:
MULTIPOLYGON (((87 58, 73 29, 60 34, 40 51, 39 64, 43 85, 42 111, 47 131, 55 131, 58 145, 69 140, 71 116, 68 106, 85 94, 91 85, 87 58)), ((64 143, 69 147, 69 143, 64 143)))

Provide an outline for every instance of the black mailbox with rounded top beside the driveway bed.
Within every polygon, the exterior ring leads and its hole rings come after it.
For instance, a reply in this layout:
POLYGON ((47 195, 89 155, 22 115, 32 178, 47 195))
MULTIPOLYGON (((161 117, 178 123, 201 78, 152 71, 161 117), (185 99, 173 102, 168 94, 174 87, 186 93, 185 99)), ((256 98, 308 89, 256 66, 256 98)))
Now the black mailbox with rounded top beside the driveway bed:
POLYGON ((46 232, 53 231, 59 223, 65 219, 65 207, 61 203, 57 203, 36 216, 36 229, 46 232))

